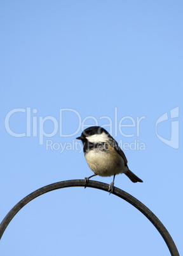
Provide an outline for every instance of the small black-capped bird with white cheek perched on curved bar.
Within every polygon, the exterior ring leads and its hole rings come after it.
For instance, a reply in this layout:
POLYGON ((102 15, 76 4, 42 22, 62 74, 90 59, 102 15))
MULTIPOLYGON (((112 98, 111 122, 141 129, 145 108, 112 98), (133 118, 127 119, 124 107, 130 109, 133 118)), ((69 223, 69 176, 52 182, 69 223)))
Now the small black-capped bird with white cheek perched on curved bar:
MULTIPOLYGON (((76 139, 81 139, 86 162, 94 173, 92 176, 85 178, 86 185, 93 176, 107 177, 114 175, 115 178, 116 174, 119 173, 125 173, 134 183, 143 182, 128 169, 125 153, 104 128, 100 126, 89 127, 76 139)), ((114 178, 109 185, 110 194, 114 187, 114 178)))

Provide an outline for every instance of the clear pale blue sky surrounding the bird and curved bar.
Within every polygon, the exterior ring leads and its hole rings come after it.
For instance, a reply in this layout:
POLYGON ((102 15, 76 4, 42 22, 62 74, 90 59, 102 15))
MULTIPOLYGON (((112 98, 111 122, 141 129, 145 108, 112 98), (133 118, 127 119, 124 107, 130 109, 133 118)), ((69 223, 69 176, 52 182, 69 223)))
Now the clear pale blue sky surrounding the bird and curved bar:
MULTIPOLYGON (((144 203, 183 253, 182 8, 182 1, 1 1, 0 220, 37 188, 93 174, 76 137, 97 122, 144 181, 120 174, 116 187, 144 203)), ((0 246, 4 256, 93 253, 170 255, 142 213, 92 188, 30 202, 0 246)))

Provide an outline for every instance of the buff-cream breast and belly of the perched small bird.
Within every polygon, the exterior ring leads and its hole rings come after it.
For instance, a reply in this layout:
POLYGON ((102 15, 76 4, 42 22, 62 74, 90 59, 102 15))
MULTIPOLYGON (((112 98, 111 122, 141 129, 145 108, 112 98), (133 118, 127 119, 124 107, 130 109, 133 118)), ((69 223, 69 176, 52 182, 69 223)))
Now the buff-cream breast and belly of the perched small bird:
POLYGON ((93 173, 99 176, 125 173, 124 160, 113 148, 110 150, 110 153, 108 150, 102 151, 97 148, 88 150, 85 153, 85 159, 93 173))

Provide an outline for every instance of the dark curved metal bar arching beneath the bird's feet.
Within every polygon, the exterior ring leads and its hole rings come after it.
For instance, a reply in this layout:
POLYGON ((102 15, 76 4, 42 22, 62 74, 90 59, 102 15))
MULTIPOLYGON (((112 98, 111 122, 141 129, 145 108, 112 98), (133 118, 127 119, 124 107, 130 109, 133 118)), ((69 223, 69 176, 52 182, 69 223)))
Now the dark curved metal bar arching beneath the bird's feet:
MULTIPOLYGON (((24 197, 18 204, 16 204, 11 211, 6 215, 4 220, 0 224, 0 239, 3 236, 3 233, 8 226, 8 224, 11 222, 12 218, 22 209, 25 204, 29 203, 33 199, 35 199, 38 196, 41 196, 47 192, 50 192, 51 190, 56 190, 59 188, 66 188, 66 187, 85 187, 86 183, 85 180, 66 180, 66 181, 60 181, 57 183, 52 183, 50 185, 47 185, 45 187, 39 188, 36 191, 32 192, 28 196, 24 197)), ((92 188, 98 188, 100 190, 104 190, 108 192, 109 185, 103 182, 99 181, 93 181, 90 180, 88 182, 87 187, 92 188)), ((175 246, 175 243, 173 242, 172 237, 164 227, 164 225, 160 222, 160 220, 150 211, 144 204, 142 204, 139 200, 137 200, 135 197, 131 196, 130 194, 126 193, 125 191, 114 187, 112 194, 115 196, 118 196, 128 203, 132 204, 135 208, 137 208, 141 213, 143 213, 150 222, 158 229, 159 233, 165 240, 166 245, 168 246, 168 249, 170 250, 170 253, 172 256, 179 256, 179 252, 177 250, 177 247, 175 246)))

